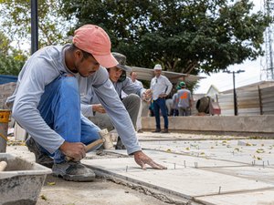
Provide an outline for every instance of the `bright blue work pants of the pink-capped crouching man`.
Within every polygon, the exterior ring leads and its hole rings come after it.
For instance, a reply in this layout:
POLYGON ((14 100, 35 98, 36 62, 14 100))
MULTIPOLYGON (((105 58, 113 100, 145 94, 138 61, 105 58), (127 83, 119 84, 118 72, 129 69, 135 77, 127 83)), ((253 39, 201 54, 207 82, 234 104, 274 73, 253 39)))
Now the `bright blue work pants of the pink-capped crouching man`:
MULTIPOLYGON (((48 84, 37 109, 47 125, 68 142, 82 142, 87 145, 100 138, 100 128, 80 112, 76 77, 62 75, 48 84)), ((58 149, 54 154, 55 163, 64 159, 64 154, 58 149)))

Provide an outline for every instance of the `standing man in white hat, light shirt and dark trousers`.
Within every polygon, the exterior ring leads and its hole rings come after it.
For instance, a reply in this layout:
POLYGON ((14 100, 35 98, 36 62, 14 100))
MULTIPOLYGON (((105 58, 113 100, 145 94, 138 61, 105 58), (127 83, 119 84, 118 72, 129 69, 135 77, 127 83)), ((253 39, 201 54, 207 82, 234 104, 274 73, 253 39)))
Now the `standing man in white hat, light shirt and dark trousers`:
POLYGON ((156 129, 154 132, 161 132, 160 109, 164 121, 163 133, 168 133, 168 118, 165 107, 165 97, 171 92, 173 85, 167 77, 162 75, 162 66, 156 64, 153 68, 155 77, 151 81, 151 89, 153 90, 153 109, 156 120, 156 129))

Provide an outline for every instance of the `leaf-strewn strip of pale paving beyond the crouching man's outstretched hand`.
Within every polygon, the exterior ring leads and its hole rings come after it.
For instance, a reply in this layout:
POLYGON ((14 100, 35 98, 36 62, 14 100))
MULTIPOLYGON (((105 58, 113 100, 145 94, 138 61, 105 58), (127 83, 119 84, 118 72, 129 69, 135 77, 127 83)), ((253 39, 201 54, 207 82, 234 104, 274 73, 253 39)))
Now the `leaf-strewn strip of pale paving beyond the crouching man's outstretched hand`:
POLYGON ((251 165, 274 166, 273 140, 200 140, 200 141, 141 141, 142 148, 200 156, 207 159, 223 159, 251 165), (240 145, 238 145, 240 144, 240 145), (244 146, 247 144, 248 146, 244 146))

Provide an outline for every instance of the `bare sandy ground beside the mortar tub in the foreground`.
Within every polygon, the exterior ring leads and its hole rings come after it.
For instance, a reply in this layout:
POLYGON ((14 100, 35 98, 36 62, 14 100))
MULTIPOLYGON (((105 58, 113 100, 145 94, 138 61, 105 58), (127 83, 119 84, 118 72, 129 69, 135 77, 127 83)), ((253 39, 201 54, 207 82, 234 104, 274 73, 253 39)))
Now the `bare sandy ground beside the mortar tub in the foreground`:
POLYGON ((163 205, 162 199, 147 195, 138 187, 130 188, 108 179, 72 182, 47 175, 37 205, 163 205))

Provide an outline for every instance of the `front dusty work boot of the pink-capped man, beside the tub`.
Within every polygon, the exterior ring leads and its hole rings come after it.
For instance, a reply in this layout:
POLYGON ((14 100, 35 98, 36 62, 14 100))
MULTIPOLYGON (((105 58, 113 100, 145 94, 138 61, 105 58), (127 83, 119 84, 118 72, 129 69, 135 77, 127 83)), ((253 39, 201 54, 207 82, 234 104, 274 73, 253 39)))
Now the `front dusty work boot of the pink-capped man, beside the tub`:
POLYGON ((52 174, 55 177, 61 177, 72 181, 92 181, 95 179, 93 170, 86 168, 79 161, 64 161, 62 163, 54 163, 52 174))

